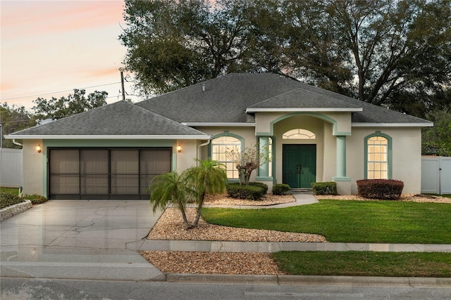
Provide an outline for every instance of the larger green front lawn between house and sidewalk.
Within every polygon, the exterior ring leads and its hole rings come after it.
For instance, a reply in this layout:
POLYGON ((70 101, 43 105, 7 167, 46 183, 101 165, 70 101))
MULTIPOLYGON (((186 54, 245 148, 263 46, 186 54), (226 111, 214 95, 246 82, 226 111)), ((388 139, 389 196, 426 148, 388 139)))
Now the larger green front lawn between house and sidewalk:
POLYGON ((320 200, 284 209, 204 208, 223 226, 316 233, 329 242, 451 244, 451 205, 396 201, 320 200))

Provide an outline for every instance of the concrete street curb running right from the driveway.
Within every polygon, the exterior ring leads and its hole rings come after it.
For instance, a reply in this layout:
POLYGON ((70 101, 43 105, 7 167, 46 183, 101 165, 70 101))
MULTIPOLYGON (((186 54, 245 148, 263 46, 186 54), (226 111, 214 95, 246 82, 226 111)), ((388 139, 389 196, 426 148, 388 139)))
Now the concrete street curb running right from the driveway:
POLYGON ((451 278, 364 277, 315 275, 228 275, 167 273, 167 282, 259 283, 275 285, 354 285, 397 287, 451 287, 451 278))

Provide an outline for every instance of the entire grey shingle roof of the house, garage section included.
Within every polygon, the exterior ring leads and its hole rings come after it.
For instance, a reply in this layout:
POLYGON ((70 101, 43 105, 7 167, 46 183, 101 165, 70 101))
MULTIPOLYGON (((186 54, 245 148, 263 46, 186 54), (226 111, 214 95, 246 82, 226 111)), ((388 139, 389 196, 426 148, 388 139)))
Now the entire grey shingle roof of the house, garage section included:
POLYGON ((191 136, 203 139, 209 136, 181 123, 254 123, 254 114, 247 113, 248 108, 252 111, 321 107, 351 111, 354 124, 431 124, 275 74, 242 73, 204 81, 136 104, 120 101, 9 136, 191 136), (360 108, 362 111, 356 111, 360 108))

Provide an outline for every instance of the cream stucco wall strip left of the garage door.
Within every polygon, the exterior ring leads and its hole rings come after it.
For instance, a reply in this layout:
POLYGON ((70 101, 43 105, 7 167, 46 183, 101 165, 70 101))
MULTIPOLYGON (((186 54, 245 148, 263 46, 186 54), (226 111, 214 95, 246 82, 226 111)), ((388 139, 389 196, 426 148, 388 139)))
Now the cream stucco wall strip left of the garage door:
POLYGON ((45 195, 47 149, 42 140, 23 140, 23 193, 45 195), (42 151, 36 151, 40 145, 42 151))

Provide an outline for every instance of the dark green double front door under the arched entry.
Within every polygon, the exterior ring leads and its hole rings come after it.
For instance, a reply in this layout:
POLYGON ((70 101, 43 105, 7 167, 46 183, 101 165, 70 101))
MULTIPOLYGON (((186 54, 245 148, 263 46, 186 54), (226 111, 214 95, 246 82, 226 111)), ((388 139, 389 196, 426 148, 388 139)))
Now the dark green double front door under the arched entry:
POLYGON ((316 145, 283 145, 283 183, 311 188, 316 181, 316 145))

